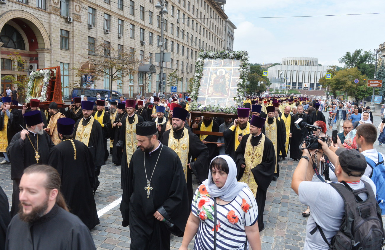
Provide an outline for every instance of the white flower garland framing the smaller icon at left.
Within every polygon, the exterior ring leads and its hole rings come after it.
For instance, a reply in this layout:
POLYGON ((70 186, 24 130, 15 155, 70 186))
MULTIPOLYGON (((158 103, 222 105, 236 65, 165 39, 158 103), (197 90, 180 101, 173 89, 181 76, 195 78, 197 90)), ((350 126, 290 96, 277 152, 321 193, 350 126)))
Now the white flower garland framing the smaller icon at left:
MULTIPOLYGON (((54 70, 54 76, 56 77, 56 70, 54 70)), ((27 85, 27 93, 25 97, 25 103, 30 103, 31 99, 39 99, 40 102, 47 101, 47 86, 49 84, 49 79, 51 78, 51 70, 39 70, 31 72, 29 75, 29 81, 27 85), (33 85, 35 84, 35 79, 43 77, 43 86, 42 91, 40 92, 40 97, 32 98, 33 85)))

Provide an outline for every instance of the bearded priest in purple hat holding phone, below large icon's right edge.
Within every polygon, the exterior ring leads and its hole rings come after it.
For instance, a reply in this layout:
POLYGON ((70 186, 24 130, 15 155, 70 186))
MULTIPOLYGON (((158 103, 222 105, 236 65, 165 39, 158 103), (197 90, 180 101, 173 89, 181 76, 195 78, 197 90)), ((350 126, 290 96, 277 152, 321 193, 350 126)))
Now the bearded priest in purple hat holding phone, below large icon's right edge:
POLYGON ((225 142, 224 151, 231 158, 233 158, 234 161, 236 160, 235 151, 239 145, 239 142, 242 139, 242 136, 248 134, 250 130, 249 113, 250 109, 248 108, 238 108, 238 119, 235 119, 234 124, 225 131, 223 131, 223 137, 225 142))

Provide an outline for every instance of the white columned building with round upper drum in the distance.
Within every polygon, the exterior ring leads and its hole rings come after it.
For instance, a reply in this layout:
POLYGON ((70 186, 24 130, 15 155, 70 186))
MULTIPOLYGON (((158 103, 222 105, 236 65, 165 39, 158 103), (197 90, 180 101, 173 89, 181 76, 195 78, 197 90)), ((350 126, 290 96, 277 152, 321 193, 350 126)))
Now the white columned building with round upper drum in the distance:
MULTIPOLYGON (((328 66, 318 66, 318 58, 285 57, 282 65, 268 68, 269 79, 281 78, 281 85, 290 89, 321 90, 319 80, 325 76, 328 66), (286 83, 286 84, 285 84, 286 83)), ((279 88, 281 86, 272 86, 279 88)))

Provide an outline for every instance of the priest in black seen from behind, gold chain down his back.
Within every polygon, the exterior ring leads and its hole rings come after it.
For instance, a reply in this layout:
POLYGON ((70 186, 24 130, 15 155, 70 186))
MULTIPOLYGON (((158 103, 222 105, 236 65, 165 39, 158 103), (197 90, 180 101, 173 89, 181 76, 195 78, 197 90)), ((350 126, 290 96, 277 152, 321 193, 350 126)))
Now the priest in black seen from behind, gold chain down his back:
POLYGON ((99 224, 94 195, 95 167, 91 152, 83 142, 73 139, 75 121, 57 119, 62 142, 52 148, 48 164, 59 172, 62 192, 70 212, 89 228, 99 224))

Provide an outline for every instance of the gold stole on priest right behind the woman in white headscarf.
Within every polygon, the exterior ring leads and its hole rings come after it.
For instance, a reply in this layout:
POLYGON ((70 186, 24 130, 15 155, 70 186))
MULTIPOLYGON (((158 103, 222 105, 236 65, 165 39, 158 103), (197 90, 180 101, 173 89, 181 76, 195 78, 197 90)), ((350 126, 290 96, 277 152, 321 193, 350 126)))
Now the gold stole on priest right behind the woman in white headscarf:
POLYGON ((251 172, 251 169, 257 166, 258 164, 261 164, 262 162, 265 136, 264 134, 262 134, 261 141, 255 147, 251 145, 252 137, 253 135, 250 135, 246 142, 246 149, 244 151, 244 162, 246 167, 239 181, 246 183, 253 192, 253 194, 255 194, 257 192, 258 185, 255 182, 254 175, 251 172))

